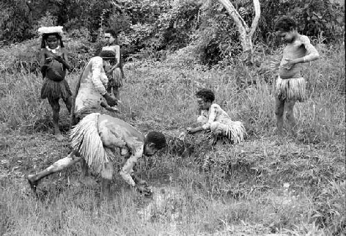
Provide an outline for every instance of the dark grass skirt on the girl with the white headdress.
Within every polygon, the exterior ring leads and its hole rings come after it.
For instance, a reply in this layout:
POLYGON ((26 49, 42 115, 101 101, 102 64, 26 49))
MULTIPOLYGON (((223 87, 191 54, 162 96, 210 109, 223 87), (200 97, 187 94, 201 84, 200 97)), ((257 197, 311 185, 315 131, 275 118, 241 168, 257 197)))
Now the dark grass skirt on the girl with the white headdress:
POLYGON ((49 80, 48 78, 44 79, 41 89, 42 99, 48 98, 50 100, 57 100, 62 98, 63 100, 66 100, 69 96, 72 96, 72 92, 66 80, 56 82, 49 80))

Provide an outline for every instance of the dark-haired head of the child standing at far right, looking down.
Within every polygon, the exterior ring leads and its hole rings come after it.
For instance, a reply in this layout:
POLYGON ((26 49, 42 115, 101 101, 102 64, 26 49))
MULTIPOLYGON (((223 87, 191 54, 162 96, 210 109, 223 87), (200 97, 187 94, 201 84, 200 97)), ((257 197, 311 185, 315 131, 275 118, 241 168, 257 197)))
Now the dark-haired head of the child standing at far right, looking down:
POLYGON ((293 42, 297 35, 297 23, 291 17, 280 17, 275 23, 275 31, 285 42, 293 42))

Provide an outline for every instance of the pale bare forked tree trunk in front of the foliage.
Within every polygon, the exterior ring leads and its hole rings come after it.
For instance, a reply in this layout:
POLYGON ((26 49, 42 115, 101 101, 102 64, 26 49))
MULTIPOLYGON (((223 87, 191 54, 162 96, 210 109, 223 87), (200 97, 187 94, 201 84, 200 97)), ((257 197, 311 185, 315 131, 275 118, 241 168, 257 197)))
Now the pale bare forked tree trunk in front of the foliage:
POLYGON ((245 62, 253 62, 253 33, 255 33, 258 21, 260 20, 261 15, 261 8, 260 8, 260 1, 259 0, 253 0, 253 5, 255 7, 255 18, 253 19, 253 22, 251 24, 251 28, 248 28, 248 25, 244 21, 241 15, 237 12, 233 4, 230 2, 230 0, 219 0, 219 2, 226 8, 228 13, 230 14, 230 17, 235 21, 235 24, 237 25, 238 31, 239 31, 239 38, 242 42, 242 48, 244 53, 244 61, 245 62))

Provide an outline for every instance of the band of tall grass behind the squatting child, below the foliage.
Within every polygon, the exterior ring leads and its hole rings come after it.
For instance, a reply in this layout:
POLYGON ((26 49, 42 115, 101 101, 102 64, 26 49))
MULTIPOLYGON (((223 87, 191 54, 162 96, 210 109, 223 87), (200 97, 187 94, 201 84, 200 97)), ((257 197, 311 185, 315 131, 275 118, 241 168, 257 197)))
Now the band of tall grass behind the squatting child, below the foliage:
MULTIPOLYGON (((318 51, 321 59, 304 66, 309 98, 295 106, 295 116, 301 129, 316 132, 322 140, 331 140, 345 132, 345 51, 324 45, 318 51)), ((202 66, 184 69, 173 67, 172 63, 145 62, 128 64, 126 71, 121 100, 125 113, 133 114, 133 118, 172 127, 192 125, 197 115, 194 92, 208 87, 215 91, 216 102, 231 118, 243 120, 256 135, 271 134, 268 131, 275 127, 273 81, 265 82, 263 76, 256 76, 255 86, 239 89, 239 75, 233 69, 207 71, 202 66)), ((14 129, 32 129, 37 122, 46 122, 51 109, 48 102, 39 99, 42 79, 33 73, 1 76, 1 122, 14 129)), ((78 73, 67 78, 72 89, 77 78, 78 73)), ((63 104, 62 111, 66 113, 63 104)))

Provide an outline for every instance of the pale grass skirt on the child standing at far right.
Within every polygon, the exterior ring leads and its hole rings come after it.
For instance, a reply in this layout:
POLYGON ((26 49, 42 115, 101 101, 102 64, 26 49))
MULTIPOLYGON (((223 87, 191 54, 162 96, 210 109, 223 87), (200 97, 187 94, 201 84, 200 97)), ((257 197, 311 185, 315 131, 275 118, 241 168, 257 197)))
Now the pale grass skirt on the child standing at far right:
POLYGON ((282 79, 279 76, 276 80, 275 94, 282 101, 304 102, 305 87, 304 78, 282 79))

